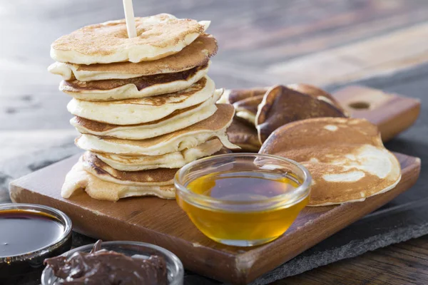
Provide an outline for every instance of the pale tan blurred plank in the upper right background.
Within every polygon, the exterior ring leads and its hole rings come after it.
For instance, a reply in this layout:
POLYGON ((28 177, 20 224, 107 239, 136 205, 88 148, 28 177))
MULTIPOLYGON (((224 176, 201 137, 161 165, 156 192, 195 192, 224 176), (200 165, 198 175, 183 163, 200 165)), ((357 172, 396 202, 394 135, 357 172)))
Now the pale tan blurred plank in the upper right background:
POLYGON ((266 73, 287 78, 289 82, 327 85, 394 73, 426 61, 428 23, 292 61, 273 63, 266 73))

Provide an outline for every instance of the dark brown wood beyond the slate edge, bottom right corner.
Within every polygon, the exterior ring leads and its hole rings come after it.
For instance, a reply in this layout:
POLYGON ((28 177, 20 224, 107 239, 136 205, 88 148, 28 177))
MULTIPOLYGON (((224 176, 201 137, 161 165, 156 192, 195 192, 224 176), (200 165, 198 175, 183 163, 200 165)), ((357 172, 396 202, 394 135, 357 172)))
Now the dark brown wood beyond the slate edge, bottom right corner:
POLYGON ((292 276, 276 285, 428 284, 428 236, 292 276), (330 283, 331 284, 331 283, 330 283))

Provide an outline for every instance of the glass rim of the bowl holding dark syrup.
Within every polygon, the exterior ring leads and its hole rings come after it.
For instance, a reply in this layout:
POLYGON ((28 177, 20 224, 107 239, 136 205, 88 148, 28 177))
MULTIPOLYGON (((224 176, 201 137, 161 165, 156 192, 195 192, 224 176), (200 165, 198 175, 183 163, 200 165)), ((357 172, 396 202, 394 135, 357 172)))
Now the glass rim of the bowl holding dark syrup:
POLYGON ((63 224, 63 233, 55 242, 46 245, 40 249, 36 249, 34 252, 27 252, 25 254, 16 254, 10 257, 0 257, 0 263, 4 261, 16 261, 16 260, 26 260, 32 259, 34 257, 39 257, 43 255, 45 252, 48 252, 50 249, 55 249, 56 247, 61 246, 69 236, 71 236, 71 230, 73 229, 73 223, 71 219, 64 214, 64 212, 59 209, 55 209, 54 207, 49 207, 41 204, 29 204, 29 203, 6 203, 0 204, 0 212, 8 209, 21 209, 28 212, 43 212, 45 214, 50 214, 51 216, 56 217, 60 220, 61 224, 63 224), (51 214, 53 212, 55 215, 51 214))

